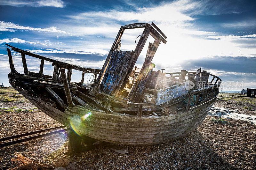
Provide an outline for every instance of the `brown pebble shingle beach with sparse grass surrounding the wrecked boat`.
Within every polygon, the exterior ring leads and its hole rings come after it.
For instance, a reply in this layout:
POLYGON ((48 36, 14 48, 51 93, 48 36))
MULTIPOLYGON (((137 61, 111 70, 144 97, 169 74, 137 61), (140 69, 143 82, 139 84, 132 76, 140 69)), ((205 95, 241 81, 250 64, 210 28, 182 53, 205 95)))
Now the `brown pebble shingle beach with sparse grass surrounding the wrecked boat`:
MULTIPOLYGON (((12 88, 1 88, 0 92, 1 138, 61 125, 24 97, 12 97, 19 95, 12 88), (5 101, 7 98, 16 101, 5 101)), ((237 93, 220 93, 214 106, 256 115, 256 99, 237 93)), ((14 169, 25 163, 40 163, 48 169, 255 169, 255 139, 252 122, 208 115, 196 130, 176 141, 118 145, 129 150, 126 154, 102 146, 66 156, 63 152, 67 152, 68 139, 63 132, 0 148, 0 169, 14 169)))

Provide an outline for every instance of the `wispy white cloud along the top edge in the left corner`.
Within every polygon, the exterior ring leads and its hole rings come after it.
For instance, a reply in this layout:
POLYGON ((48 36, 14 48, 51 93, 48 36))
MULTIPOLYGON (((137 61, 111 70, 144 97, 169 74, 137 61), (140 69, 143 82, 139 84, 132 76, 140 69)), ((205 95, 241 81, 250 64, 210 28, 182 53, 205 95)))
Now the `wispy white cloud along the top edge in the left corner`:
POLYGON ((57 7, 57 8, 65 7, 65 3, 61 0, 40 0, 40 1, 2 0, 1 5, 33 6, 33 7, 51 6, 51 7, 57 7))

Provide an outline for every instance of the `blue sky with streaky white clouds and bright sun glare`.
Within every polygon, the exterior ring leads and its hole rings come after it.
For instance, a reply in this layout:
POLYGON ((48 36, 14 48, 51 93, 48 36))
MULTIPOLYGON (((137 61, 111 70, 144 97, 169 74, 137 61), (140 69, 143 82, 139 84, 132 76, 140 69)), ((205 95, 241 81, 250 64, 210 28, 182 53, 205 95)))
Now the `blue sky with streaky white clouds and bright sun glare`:
MULTIPOLYGON (((222 90, 256 88, 256 1, 82 1, 0 0, 0 83, 10 86, 6 43, 32 53, 84 67, 101 69, 120 26, 154 22, 167 36, 152 62, 154 70, 195 71, 219 76, 222 90)), ((134 50, 143 29, 125 30, 121 50, 134 50)), ((148 43, 138 58, 144 62, 148 43)), ((12 51, 15 69, 21 56, 12 51)), ((28 57, 28 70, 39 72, 40 60, 28 57)), ((51 63, 44 74, 52 75, 51 63)), ((85 81, 91 75, 86 74, 85 81)), ((80 81, 73 71, 71 81, 80 81)))

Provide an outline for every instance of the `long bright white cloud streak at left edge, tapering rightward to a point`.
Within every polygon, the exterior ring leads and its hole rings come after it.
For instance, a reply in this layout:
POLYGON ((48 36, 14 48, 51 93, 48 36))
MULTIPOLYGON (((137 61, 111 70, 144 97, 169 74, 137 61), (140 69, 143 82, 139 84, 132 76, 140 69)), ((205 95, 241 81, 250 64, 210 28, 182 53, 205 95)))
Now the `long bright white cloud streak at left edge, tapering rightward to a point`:
POLYGON ((69 34, 65 31, 60 30, 59 28, 54 27, 54 26, 48 27, 48 28, 33 28, 30 26, 20 26, 18 24, 14 24, 12 22, 0 21, 0 31, 14 32, 15 30, 30 30, 30 31, 43 31, 43 32, 69 34))

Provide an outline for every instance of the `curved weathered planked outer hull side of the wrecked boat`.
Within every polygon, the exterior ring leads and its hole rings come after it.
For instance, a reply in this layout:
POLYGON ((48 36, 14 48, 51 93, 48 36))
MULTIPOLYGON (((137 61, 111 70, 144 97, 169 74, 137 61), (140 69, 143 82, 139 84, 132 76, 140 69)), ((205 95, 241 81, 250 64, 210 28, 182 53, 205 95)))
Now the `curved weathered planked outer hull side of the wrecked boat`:
POLYGON ((217 98, 216 95, 212 100, 176 115, 137 117, 106 113, 84 106, 68 107, 62 112, 40 98, 33 98, 22 92, 21 94, 46 115, 73 129, 77 134, 131 145, 160 144, 187 135, 200 125, 217 98), (90 115, 83 119, 88 113, 90 115))

